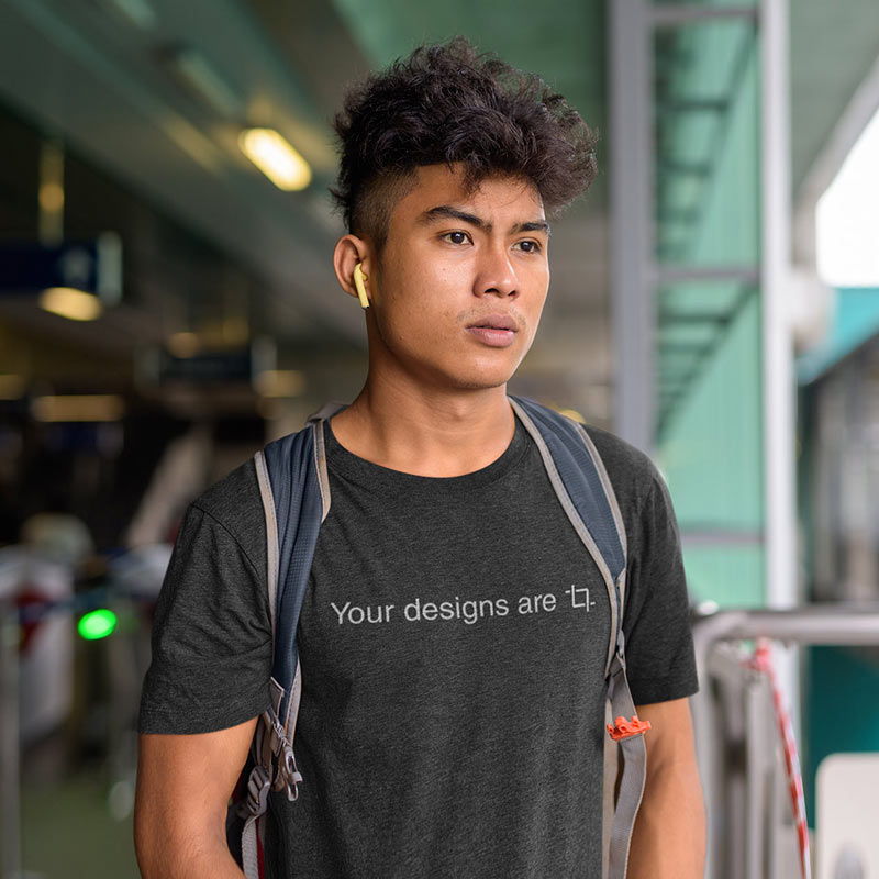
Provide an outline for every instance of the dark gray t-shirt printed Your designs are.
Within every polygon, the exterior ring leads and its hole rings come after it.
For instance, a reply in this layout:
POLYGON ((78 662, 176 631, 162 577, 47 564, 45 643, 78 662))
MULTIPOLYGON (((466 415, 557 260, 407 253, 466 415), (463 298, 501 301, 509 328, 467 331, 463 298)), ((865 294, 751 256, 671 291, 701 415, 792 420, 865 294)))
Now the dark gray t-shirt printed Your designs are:
MULTIPOLYGON (((628 536, 636 703, 696 690, 677 532, 649 461, 590 429, 628 536)), ((302 608, 294 750, 269 875, 598 877, 610 605, 521 424, 467 476, 379 467, 326 431, 332 507, 302 608)), ((141 730, 268 704, 265 525, 252 464, 190 509, 159 601, 141 730)))

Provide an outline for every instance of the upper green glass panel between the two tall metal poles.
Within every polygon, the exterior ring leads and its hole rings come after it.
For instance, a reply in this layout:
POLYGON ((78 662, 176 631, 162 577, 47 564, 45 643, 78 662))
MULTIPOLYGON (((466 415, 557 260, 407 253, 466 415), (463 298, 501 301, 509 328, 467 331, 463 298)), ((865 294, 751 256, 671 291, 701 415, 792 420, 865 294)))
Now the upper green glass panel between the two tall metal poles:
POLYGON ((655 32, 656 258, 753 266, 759 256, 755 24, 720 19, 655 32))

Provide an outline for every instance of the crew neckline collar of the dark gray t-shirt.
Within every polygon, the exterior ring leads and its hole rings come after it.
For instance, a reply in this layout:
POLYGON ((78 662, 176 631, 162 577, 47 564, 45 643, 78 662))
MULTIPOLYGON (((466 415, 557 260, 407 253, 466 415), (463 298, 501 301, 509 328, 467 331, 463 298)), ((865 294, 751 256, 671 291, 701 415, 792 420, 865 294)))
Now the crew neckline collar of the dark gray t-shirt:
POLYGON ((470 491, 474 488, 496 482, 510 474, 522 460, 528 447, 527 432, 516 416, 515 430, 510 444, 499 458, 486 467, 463 476, 416 476, 402 470, 392 470, 358 457, 336 439, 329 420, 323 422, 323 426, 330 472, 365 486, 372 491, 397 492, 412 489, 441 492, 470 491))

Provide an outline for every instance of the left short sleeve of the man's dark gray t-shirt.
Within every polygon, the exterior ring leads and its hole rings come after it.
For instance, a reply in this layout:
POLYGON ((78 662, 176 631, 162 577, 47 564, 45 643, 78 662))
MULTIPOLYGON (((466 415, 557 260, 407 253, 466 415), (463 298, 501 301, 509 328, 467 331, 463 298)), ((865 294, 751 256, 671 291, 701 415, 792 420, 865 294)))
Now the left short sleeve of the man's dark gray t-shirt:
POLYGON ((197 501, 187 511, 162 588, 141 698, 142 733, 213 732, 244 723, 269 705, 266 574, 251 557, 257 553, 243 545, 251 532, 256 532, 251 542, 258 545, 254 516, 265 541, 262 508, 248 503, 249 492, 235 505, 215 502, 222 488, 211 492, 205 497, 213 503, 197 501), (221 521, 235 507, 234 520, 221 521), (242 527, 246 522, 249 530, 242 527))

